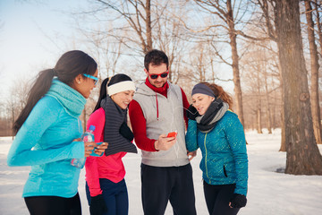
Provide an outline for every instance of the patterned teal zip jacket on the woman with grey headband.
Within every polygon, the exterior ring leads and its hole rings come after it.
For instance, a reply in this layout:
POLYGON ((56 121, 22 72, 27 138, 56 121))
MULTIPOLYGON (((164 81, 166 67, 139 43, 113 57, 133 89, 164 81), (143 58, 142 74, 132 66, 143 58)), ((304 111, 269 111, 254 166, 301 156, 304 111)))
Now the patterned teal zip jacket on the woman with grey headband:
POLYGON ((248 158, 245 134, 238 116, 231 111, 209 133, 202 133, 195 120, 189 120, 187 150, 200 148, 202 177, 209 185, 236 184, 234 193, 246 195, 248 158))

